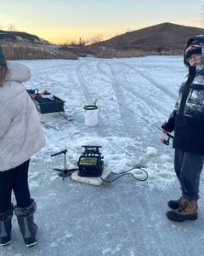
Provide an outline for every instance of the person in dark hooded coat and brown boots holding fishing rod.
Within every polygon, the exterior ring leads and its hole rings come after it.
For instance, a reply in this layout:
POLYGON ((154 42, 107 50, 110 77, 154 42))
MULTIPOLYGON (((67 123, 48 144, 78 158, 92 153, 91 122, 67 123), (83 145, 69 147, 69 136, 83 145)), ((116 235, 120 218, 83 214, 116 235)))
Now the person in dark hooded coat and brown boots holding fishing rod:
POLYGON ((161 125, 174 131, 174 169, 182 196, 168 201, 174 221, 197 219, 200 175, 204 156, 204 35, 190 38, 184 49, 184 64, 189 73, 181 84, 178 102, 169 119, 161 125))

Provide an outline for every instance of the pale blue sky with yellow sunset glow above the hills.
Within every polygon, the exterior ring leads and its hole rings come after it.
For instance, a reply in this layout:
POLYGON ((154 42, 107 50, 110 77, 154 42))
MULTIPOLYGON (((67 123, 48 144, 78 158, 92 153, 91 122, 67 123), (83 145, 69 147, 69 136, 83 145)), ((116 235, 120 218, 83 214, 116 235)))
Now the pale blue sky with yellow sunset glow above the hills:
POLYGON ((35 34, 54 44, 114 37, 172 22, 204 28, 204 0, 0 0, 0 29, 35 34))

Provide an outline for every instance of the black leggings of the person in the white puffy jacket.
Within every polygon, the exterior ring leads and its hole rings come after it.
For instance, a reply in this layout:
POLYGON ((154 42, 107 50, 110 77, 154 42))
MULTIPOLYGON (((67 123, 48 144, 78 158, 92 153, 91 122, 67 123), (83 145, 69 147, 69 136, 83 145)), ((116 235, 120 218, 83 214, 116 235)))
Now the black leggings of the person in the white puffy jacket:
POLYGON ((5 172, 0 172, 0 212, 10 209, 11 193, 14 191, 18 207, 29 207, 31 195, 28 188, 29 161, 5 172))

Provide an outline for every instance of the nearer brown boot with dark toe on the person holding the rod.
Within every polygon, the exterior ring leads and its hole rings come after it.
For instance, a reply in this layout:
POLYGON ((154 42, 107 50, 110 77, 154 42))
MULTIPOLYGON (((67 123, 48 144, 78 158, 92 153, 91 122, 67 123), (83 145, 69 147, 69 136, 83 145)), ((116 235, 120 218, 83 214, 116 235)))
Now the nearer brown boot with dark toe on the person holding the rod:
POLYGON ((189 201, 183 197, 178 209, 167 212, 167 218, 178 222, 197 219, 197 201, 189 201))

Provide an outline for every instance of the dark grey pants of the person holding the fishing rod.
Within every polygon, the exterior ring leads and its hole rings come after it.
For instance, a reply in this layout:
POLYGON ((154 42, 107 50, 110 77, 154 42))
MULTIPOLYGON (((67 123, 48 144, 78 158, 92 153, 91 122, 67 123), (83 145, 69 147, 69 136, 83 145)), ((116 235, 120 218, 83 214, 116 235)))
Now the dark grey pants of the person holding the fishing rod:
POLYGON ((181 185, 182 195, 192 200, 199 199, 199 183, 204 157, 175 149, 174 168, 181 185))

